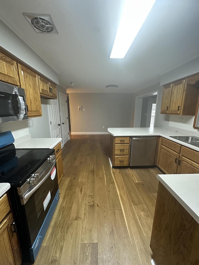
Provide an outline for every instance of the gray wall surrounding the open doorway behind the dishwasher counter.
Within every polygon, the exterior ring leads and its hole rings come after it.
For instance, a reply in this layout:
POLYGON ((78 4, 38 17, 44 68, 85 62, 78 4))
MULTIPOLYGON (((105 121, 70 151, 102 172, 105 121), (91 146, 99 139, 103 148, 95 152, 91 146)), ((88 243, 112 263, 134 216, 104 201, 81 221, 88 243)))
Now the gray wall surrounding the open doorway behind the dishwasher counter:
POLYGON ((139 90, 135 93, 133 93, 133 101, 132 101, 132 127, 134 124, 134 115, 135 115, 135 102, 136 102, 136 97, 141 96, 150 92, 155 92, 158 91, 157 95, 157 105, 156 105, 156 115, 155 115, 155 125, 154 127, 164 127, 168 128, 169 126, 169 117, 170 115, 168 114, 160 114, 160 109, 161 109, 161 102, 162 102, 162 93, 163 93, 163 87, 160 86, 160 83, 157 83, 155 85, 151 85, 150 87, 147 87, 145 89, 139 90))

